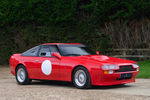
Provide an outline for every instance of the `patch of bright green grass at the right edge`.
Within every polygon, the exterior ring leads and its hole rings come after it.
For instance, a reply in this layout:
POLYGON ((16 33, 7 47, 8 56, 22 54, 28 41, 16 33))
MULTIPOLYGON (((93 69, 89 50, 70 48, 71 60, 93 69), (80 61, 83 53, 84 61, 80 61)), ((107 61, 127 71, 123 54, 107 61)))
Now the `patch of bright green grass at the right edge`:
POLYGON ((140 72, 137 78, 150 78, 150 60, 139 62, 140 72))

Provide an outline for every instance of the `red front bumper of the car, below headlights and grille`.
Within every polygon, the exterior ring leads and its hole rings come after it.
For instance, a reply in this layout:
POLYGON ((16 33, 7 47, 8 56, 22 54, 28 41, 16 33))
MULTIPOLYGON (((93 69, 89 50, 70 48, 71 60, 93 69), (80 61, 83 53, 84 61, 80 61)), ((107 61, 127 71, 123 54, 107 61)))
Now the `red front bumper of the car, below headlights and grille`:
POLYGON ((138 74, 138 71, 129 71, 129 72, 119 72, 119 73, 113 73, 113 74, 102 74, 102 77, 99 79, 99 81, 93 83, 93 85, 100 85, 100 86, 107 86, 107 85, 118 85, 118 84, 126 84, 126 83, 132 83, 135 82, 135 78, 138 74), (121 79, 121 74, 125 73, 132 73, 132 77, 130 79, 121 79))

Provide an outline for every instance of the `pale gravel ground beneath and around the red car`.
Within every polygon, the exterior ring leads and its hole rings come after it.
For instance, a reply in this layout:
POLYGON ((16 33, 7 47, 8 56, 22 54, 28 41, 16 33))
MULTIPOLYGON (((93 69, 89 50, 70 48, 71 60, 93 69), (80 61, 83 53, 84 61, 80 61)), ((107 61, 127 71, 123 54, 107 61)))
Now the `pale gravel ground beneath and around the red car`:
POLYGON ((0 67, 0 100, 150 100, 150 79, 123 86, 76 89, 72 83, 33 81, 18 85, 9 67, 0 67))

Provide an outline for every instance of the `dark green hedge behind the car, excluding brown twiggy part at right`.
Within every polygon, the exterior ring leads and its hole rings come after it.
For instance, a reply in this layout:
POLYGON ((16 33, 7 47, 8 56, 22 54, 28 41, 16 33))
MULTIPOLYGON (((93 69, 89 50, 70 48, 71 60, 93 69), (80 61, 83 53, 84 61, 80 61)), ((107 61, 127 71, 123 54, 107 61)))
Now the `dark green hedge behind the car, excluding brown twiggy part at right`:
POLYGON ((1 0, 0 64, 13 53, 45 42, 81 42, 111 48, 106 22, 150 18, 149 0, 1 0))

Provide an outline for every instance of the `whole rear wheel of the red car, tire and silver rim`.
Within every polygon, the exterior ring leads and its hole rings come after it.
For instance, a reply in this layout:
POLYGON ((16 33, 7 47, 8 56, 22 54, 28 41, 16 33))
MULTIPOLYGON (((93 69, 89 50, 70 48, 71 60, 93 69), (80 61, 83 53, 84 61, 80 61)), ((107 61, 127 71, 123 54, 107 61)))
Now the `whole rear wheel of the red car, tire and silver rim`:
POLYGON ((16 69, 16 81, 20 85, 27 85, 32 81, 29 79, 28 72, 23 65, 19 65, 16 69))

